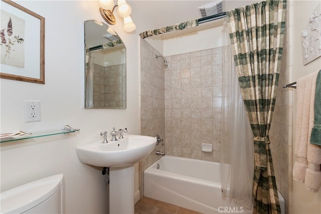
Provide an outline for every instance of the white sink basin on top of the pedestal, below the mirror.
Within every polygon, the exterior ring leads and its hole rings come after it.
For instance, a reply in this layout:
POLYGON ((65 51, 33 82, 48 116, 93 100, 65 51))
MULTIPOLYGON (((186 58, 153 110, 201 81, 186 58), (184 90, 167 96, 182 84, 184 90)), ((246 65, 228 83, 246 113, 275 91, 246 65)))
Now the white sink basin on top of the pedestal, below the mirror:
POLYGON ((102 140, 76 147, 82 163, 100 167, 123 167, 139 162, 152 152, 156 138, 125 134, 123 139, 102 140))

